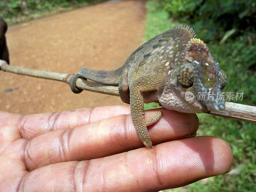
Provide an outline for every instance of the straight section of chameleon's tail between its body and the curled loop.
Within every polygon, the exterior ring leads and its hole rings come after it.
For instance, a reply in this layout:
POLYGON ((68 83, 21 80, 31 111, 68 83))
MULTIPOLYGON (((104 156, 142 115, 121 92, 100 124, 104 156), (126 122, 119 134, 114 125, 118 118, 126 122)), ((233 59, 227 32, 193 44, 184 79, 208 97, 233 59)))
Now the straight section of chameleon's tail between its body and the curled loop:
POLYGON ((108 85, 118 85, 121 81, 123 66, 110 71, 103 71, 103 70, 95 70, 89 68, 81 68, 79 74, 92 81, 108 84, 108 85))

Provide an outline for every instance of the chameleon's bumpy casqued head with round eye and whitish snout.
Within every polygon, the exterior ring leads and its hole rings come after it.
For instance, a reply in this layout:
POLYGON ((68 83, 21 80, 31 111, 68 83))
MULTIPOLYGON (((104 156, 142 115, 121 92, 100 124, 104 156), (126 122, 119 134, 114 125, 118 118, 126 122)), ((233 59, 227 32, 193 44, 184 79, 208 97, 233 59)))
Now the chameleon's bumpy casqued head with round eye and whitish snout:
POLYGON ((197 113, 224 109, 221 90, 227 84, 227 76, 200 39, 193 38, 188 43, 174 76, 172 88, 190 109, 197 113))

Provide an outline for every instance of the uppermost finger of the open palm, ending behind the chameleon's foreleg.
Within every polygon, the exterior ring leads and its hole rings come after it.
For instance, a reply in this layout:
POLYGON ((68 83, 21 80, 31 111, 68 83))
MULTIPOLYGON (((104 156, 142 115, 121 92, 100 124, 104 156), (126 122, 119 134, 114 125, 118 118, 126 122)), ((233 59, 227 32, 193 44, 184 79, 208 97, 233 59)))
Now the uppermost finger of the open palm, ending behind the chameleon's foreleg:
MULTIPOLYGON (((126 115, 129 113, 130 107, 125 105, 82 108, 27 116, 0 111, 0 127, 8 126, 9 130, 14 129, 15 131, 18 131, 20 133, 20 138, 30 140, 35 136, 49 131, 72 129, 109 117, 126 115)), ((0 134, 3 134, 3 138, 5 138, 4 135, 7 134, 7 131, 8 130, 0 129, 0 134)))

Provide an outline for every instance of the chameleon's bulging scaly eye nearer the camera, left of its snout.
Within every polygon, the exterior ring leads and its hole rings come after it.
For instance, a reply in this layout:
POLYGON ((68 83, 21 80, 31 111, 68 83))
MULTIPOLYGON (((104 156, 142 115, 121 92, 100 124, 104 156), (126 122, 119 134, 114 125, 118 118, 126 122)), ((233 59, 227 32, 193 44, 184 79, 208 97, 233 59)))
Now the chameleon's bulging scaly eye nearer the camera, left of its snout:
POLYGON ((191 87, 194 82, 194 77, 195 77, 195 68, 193 67, 193 65, 184 64, 180 66, 177 73, 177 80, 182 87, 184 88, 191 87))

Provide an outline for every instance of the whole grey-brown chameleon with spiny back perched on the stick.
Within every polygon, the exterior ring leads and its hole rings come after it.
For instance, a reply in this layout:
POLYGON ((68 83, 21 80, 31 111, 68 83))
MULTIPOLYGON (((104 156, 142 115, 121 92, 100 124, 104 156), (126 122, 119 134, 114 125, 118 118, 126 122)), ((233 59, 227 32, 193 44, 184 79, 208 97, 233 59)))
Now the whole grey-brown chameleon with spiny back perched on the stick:
POLYGON ((202 113, 224 109, 225 100, 218 93, 226 86, 227 76, 214 60, 206 44, 195 38, 189 26, 176 26, 155 36, 136 49, 115 70, 81 68, 70 79, 71 90, 77 78, 108 85, 118 85, 120 98, 130 104, 132 122, 143 144, 151 148, 147 126, 156 123, 162 112, 144 115, 144 103, 186 113, 202 113), (186 100, 186 94, 195 98, 186 100), (199 100, 199 94, 204 99, 199 100))

